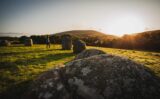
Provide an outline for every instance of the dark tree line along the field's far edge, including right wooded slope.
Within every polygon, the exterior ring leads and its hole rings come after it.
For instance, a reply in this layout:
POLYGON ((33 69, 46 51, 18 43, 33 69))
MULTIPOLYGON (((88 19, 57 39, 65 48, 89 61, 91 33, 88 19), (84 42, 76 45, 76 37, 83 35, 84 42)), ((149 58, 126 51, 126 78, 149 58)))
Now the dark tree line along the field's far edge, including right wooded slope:
MULTIPOLYGON (((60 44, 62 35, 50 35, 52 44, 60 44)), ((72 36, 72 35, 71 35, 72 36)), ((0 40, 9 40, 13 44, 24 43, 27 38, 31 38, 34 44, 45 44, 46 35, 32 35, 30 37, 0 37, 0 40)), ((124 35, 119 38, 84 37, 72 36, 72 39, 81 39, 89 46, 111 47, 122 49, 160 50, 160 30, 148 31, 133 35, 124 35)))

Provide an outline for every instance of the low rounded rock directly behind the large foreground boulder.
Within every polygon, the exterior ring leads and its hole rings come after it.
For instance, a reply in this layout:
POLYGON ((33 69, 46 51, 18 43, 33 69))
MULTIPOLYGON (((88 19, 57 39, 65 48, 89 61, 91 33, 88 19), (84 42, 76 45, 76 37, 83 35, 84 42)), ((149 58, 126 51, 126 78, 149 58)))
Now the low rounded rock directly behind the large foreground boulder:
POLYGON ((94 55, 100 55, 100 54, 106 54, 106 53, 104 51, 101 51, 98 49, 86 49, 86 50, 82 51, 80 54, 78 54, 75 57, 75 60, 87 58, 87 57, 94 56, 94 55))

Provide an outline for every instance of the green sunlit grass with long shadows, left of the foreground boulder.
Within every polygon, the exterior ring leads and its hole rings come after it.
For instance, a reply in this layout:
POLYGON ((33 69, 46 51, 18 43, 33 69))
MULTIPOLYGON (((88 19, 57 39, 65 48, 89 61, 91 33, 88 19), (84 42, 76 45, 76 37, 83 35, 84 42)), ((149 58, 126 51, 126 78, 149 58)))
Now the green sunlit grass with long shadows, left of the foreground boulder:
MULTIPOLYGON (((60 45, 54 45, 50 49, 46 49, 45 45, 2 47, 0 49, 0 93, 9 91, 21 82, 30 81, 40 73, 73 58, 74 54, 71 51, 61 50, 60 45)), ((23 89, 24 86, 20 86, 19 89, 23 89)))

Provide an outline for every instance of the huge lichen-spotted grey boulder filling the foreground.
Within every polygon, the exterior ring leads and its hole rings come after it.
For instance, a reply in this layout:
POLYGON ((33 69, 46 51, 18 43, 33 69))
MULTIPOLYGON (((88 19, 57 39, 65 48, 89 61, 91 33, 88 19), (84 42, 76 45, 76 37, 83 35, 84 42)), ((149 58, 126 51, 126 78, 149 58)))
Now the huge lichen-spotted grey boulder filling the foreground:
POLYGON ((41 75, 25 99, 159 99, 159 78, 113 55, 74 60, 41 75))

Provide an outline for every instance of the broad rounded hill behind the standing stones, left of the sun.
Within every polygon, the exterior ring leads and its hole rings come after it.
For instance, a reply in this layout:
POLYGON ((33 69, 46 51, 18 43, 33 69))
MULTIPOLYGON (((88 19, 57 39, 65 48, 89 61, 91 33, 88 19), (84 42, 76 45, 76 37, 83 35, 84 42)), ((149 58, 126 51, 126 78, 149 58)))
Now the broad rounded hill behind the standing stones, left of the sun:
POLYGON ((94 31, 94 30, 73 30, 73 31, 65 31, 61 33, 53 34, 55 37, 61 37, 64 34, 69 34, 74 38, 79 38, 84 40, 87 45, 94 46, 106 46, 112 47, 112 41, 118 39, 117 36, 104 34, 102 32, 94 31))

